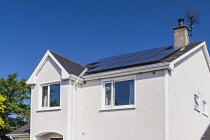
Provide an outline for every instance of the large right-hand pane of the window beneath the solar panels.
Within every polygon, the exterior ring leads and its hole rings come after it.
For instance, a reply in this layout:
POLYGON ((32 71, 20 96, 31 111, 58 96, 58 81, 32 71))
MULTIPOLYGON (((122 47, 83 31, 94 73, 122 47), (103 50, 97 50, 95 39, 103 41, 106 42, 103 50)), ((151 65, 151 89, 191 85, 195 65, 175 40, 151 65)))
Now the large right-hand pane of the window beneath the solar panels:
POLYGON ((115 105, 134 104, 134 80, 115 82, 115 105))

